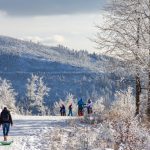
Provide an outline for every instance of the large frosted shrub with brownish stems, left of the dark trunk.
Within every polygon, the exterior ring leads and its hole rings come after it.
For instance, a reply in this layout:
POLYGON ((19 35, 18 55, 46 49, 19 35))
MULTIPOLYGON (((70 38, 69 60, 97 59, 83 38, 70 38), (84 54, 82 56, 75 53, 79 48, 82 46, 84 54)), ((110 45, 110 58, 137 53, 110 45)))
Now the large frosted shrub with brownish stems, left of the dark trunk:
POLYGON ((125 92, 116 93, 116 101, 108 111, 107 121, 118 149, 149 149, 150 134, 148 129, 140 124, 138 117, 135 117, 135 106, 132 88, 129 87, 125 92))

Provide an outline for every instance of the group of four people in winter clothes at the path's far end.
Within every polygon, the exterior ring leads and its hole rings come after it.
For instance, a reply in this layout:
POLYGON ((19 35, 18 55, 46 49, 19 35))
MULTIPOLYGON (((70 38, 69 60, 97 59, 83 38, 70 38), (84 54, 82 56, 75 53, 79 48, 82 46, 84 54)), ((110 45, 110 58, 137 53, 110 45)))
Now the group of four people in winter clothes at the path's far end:
MULTIPOLYGON (((78 105, 78 116, 83 116, 84 115, 84 109, 85 108, 87 109, 88 114, 92 114, 92 112, 93 112, 92 111, 93 103, 90 99, 88 100, 87 104, 85 104, 83 102, 82 98, 81 98, 81 99, 79 99, 77 105, 78 105)), ((70 104, 69 107, 68 107, 68 112, 69 112, 68 116, 73 116, 73 112, 72 112, 73 108, 72 107, 73 107, 72 104, 70 104)), ((66 116, 66 108, 65 108, 64 104, 62 104, 60 106, 60 115, 61 116, 66 116)))

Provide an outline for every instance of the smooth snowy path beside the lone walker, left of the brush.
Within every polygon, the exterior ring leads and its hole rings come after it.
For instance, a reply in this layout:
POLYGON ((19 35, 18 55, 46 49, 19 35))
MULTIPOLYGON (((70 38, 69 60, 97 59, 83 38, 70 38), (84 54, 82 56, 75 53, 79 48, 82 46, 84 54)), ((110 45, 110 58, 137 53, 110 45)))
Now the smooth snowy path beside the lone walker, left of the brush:
MULTIPOLYGON (((9 139, 13 139, 11 146, 0 146, 0 150, 43 150, 40 146, 40 134, 46 128, 65 127, 66 121, 71 117, 13 117, 14 125, 10 131, 9 139), (39 145, 38 145, 39 144, 39 145), (37 148, 39 147, 39 149, 37 148)), ((0 140, 2 140, 2 130, 0 140)))

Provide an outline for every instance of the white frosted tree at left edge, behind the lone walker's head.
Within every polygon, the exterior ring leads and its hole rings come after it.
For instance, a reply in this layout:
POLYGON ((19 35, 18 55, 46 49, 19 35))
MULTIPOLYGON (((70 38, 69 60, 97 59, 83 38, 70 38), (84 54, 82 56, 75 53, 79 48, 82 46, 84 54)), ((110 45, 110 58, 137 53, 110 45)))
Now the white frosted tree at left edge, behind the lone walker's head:
POLYGON ((16 111, 16 96, 10 81, 0 78, 0 107, 8 107, 11 111, 16 111))

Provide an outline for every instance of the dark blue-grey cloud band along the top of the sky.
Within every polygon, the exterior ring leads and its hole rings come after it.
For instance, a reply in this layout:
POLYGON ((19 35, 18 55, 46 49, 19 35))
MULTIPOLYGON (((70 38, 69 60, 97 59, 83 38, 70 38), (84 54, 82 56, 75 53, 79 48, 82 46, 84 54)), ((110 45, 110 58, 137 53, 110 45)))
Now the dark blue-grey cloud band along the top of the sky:
POLYGON ((13 16, 91 13, 100 10, 105 0, 0 0, 0 9, 13 16))

